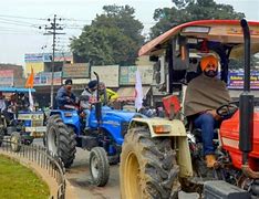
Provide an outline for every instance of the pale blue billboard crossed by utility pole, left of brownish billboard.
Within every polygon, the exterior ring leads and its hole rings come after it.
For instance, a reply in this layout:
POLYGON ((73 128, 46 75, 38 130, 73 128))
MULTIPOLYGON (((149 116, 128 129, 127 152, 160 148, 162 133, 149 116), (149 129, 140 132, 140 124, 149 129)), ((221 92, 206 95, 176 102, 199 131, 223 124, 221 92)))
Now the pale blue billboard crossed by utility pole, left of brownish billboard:
MULTIPOLYGON (((34 76, 34 86, 51 85, 51 78, 52 78, 51 72, 38 73, 34 76)), ((61 85, 61 82, 62 82, 62 72, 54 72, 53 84, 61 85)))

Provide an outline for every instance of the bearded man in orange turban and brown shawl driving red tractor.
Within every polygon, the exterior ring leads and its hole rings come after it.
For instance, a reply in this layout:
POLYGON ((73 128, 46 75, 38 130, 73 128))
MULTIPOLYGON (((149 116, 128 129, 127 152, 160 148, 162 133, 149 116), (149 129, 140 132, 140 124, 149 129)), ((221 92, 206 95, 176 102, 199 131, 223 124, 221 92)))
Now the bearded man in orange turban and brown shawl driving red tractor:
POLYGON ((220 116, 216 109, 230 102, 226 84, 217 77, 218 59, 208 55, 201 59, 203 73, 190 81, 184 103, 185 115, 195 127, 201 129, 204 155, 208 168, 217 166, 213 144, 214 128, 219 127, 220 116))

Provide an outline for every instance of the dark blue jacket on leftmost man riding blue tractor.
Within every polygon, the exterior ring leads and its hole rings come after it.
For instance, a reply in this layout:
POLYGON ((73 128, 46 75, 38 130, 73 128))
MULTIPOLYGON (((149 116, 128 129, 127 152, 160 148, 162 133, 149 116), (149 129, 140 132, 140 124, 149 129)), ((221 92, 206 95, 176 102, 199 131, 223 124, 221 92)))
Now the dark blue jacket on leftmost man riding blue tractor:
POLYGON ((75 103, 75 95, 73 93, 69 95, 65 87, 62 86, 56 93, 55 101, 59 108, 63 107, 64 105, 73 105, 75 103), (68 100, 68 97, 70 97, 70 100, 68 100))

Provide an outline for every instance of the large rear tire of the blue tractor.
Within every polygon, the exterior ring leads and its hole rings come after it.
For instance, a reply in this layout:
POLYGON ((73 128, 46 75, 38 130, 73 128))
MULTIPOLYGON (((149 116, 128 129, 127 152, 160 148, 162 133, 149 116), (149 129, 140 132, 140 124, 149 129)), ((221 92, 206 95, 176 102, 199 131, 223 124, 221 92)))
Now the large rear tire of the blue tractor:
POLYGON ((71 126, 66 126, 60 115, 52 115, 48 119, 45 144, 49 151, 59 156, 65 168, 71 167, 75 158, 75 134, 71 126))

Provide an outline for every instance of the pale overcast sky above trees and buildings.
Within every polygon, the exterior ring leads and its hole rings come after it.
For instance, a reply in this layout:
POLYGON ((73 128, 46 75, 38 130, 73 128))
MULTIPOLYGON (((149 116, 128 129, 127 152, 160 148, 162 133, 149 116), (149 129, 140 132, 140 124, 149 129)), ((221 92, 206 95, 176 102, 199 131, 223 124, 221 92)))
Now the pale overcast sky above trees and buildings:
MULTIPOLYGON (((259 21, 259 0, 216 0, 231 4, 235 11, 244 12, 248 20, 259 21)), ((154 10, 170 8, 172 0, 2 0, 0 12, 0 63, 24 65, 25 53, 52 52, 52 35, 44 35, 48 19, 54 14, 61 19, 65 33, 56 39, 56 49, 68 51, 69 38, 79 36, 84 24, 103 12, 106 4, 135 9, 135 18, 144 24, 144 33, 155 24, 154 10), (43 29, 39 29, 42 27, 43 29)))

